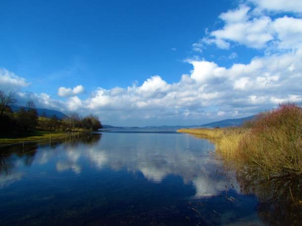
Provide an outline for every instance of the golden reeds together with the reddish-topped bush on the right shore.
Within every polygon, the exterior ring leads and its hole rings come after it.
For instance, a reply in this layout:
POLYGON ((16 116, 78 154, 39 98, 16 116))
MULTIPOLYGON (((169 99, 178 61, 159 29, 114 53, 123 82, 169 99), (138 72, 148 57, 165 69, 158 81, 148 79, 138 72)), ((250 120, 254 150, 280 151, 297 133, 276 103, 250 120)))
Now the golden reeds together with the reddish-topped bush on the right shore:
POLYGON ((302 109, 295 104, 258 115, 240 128, 179 129, 211 139, 240 170, 267 178, 302 176, 302 109))

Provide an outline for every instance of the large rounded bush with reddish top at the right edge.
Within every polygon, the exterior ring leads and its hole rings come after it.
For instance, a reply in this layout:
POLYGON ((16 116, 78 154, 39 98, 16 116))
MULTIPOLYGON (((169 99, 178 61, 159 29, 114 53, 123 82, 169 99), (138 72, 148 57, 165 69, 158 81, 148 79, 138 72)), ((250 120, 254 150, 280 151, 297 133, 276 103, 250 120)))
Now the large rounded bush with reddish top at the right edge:
POLYGON ((260 114, 238 149, 260 173, 301 174, 302 109, 288 103, 260 114))

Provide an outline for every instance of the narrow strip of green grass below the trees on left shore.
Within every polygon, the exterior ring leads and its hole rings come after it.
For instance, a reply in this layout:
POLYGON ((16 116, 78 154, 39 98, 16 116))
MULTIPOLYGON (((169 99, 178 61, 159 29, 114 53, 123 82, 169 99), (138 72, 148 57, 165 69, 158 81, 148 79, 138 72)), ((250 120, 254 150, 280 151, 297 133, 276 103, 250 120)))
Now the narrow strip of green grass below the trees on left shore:
POLYGON ((54 132, 54 131, 37 131, 30 134, 22 135, 10 135, 10 136, 1 136, 0 137, 0 146, 6 144, 13 144, 18 142, 27 142, 27 141, 38 141, 44 139, 58 139, 64 136, 69 136, 70 133, 64 132, 54 132))

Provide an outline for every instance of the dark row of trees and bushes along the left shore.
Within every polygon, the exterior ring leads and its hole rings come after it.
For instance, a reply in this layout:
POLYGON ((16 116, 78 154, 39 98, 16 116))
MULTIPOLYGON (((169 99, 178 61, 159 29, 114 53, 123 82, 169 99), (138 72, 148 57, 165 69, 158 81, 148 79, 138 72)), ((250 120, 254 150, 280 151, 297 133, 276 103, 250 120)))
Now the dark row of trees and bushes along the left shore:
POLYGON ((22 134, 37 130, 43 131, 88 131, 102 128, 99 118, 95 115, 81 117, 71 113, 67 118, 59 119, 57 116, 46 117, 38 112, 33 101, 28 101, 26 107, 13 111, 17 103, 14 93, 5 94, 0 90, 0 134, 22 134))

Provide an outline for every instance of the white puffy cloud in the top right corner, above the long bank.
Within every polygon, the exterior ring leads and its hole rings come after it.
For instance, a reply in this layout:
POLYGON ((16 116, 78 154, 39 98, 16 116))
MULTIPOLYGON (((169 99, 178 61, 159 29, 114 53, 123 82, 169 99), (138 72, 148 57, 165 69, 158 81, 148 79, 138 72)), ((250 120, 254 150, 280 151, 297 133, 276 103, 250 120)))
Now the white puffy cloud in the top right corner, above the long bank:
MULTIPOLYGON (((225 23, 224 27, 209 32, 205 37, 195 44, 215 44, 221 49, 229 49, 232 43, 245 45, 255 49, 264 49, 268 46, 274 49, 292 50, 302 46, 302 19, 297 17, 283 16, 272 19, 269 14, 264 12, 256 13, 259 8, 264 7, 270 10, 277 10, 278 5, 283 1, 253 1, 256 8, 251 8, 245 4, 240 5, 234 10, 222 13, 219 18, 225 23), (270 7, 275 5, 274 7, 270 7)), ((288 2, 288 1, 286 1, 288 2)), ((282 4, 283 5, 283 4, 282 4)), ((298 1, 291 1, 284 5, 288 11, 300 12, 302 2, 298 6, 298 1)), ((287 11, 287 10, 285 10, 287 11)), ((194 45, 194 44, 193 44, 194 45)))

